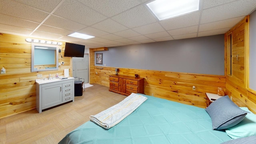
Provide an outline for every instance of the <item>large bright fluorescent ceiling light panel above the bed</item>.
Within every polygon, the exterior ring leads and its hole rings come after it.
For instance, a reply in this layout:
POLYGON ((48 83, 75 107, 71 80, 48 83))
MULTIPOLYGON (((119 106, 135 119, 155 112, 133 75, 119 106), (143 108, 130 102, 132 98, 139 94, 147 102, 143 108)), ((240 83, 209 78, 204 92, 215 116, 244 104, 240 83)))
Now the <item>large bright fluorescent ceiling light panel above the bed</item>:
POLYGON ((159 20, 165 20, 198 11, 200 0, 155 0, 147 6, 159 20))

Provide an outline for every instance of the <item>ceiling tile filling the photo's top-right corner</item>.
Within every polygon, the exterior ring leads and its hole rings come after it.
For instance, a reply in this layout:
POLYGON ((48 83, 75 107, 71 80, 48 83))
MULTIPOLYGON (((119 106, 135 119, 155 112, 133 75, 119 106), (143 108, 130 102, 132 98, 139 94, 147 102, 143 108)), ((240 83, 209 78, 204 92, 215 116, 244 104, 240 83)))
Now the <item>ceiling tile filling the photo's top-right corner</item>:
POLYGON ((246 16, 252 9, 256 8, 256 0, 251 0, 246 3, 244 1, 245 0, 239 0, 203 10, 201 24, 246 16))

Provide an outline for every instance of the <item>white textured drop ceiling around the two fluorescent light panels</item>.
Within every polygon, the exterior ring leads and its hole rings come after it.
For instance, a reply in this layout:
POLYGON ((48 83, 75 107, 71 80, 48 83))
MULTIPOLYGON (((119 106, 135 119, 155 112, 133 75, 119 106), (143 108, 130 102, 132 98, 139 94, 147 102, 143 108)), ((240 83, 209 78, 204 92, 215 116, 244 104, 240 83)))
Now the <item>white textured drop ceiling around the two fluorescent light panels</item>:
POLYGON ((159 21, 152 0, 0 0, 0 32, 114 47, 224 34, 256 9, 256 0, 202 0, 198 12, 159 21), (95 36, 72 38, 74 32, 95 36))

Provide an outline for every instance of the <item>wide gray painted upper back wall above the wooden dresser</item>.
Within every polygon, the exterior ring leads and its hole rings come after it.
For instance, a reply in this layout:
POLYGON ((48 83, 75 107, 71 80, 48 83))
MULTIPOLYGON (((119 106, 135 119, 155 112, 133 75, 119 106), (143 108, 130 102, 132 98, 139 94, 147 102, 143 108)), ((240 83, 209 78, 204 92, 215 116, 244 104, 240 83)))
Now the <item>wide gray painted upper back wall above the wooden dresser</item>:
POLYGON ((224 75, 224 34, 108 48, 103 65, 224 75))

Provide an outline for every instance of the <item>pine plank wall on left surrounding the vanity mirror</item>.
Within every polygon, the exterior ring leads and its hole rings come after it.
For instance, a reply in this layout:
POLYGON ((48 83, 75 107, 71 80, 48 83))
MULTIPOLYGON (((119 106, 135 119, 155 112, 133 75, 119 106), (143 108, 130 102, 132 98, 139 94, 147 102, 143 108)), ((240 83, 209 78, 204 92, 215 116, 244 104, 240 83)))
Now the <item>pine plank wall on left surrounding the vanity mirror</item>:
POLYGON ((63 76, 69 68, 72 76, 72 58, 64 57, 65 42, 59 46, 59 62, 64 62, 59 70, 31 72, 31 43, 25 38, 0 33, 0 68, 6 68, 6 74, 0 74, 0 118, 36 107, 37 74, 63 76))

